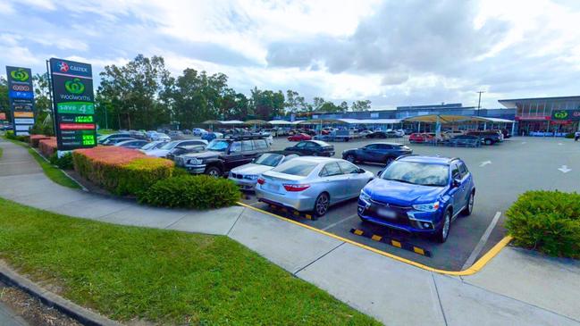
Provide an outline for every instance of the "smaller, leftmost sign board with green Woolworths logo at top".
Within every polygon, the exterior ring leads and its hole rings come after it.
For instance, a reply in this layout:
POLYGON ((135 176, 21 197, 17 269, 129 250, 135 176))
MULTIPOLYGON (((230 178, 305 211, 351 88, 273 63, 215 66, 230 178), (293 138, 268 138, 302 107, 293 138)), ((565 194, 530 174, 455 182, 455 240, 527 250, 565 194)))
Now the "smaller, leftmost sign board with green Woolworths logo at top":
POLYGON ((6 66, 6 75, 8 77, 8 102, 13 114, 14 135, 29 136, 29 129, 34 125, 32 71, 29 68, 6 66))

